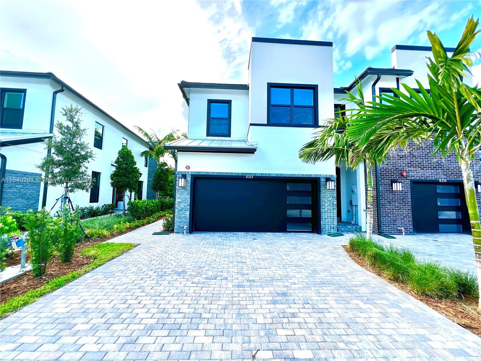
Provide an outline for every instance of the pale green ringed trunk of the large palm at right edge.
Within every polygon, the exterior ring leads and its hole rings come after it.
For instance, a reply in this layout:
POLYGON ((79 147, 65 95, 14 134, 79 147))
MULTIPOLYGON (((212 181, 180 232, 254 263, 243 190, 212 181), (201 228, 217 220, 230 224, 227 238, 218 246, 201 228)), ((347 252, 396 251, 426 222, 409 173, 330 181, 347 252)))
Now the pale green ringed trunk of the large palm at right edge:
MULTIPOLYGON (((466 196, 466 205, 468 206, 469 223, 471 224, 471 233, 473 236, 474 258, 476 259, 476 273, 478 274, 478 287, 481 297, 481 224, 478 210, 478 202, 476 200, 476 189, 474 187, 473 174, 469 168, 468 156, 459 156, 459 165, 463 172, 464 194, 466 196)), ((481 298, 478 301, 478 310, 481 311, 481 298)))

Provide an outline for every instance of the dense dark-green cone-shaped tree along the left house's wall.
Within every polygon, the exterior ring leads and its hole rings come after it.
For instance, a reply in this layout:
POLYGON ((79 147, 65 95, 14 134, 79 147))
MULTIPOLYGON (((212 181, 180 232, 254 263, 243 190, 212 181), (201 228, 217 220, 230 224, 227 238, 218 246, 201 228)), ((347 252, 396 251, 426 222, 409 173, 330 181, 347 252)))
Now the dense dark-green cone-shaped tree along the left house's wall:
POLYGON ((117 153, 115 165, 114 171, 110 174, 110 184, 112 187, 117 188, 119 194, 122 194, 122 196, 124 196, 127 190, 135 192, 139 184, 140 170, 137 168, 137 162, 132 151, 127 147, 122 147, 117 153))

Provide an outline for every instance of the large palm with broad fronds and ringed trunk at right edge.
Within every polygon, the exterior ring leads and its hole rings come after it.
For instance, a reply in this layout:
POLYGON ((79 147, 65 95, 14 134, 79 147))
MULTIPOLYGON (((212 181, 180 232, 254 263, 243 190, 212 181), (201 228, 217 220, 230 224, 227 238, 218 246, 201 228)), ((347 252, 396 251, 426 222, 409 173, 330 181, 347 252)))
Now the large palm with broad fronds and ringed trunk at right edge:
MULTIPOLYGON (((468 19, 455 51, 449 57, 443 43, 428 30, 433 59, 428 57, 430 93, 418 83, 420 94, 403 84, 405 92, 392 89, 395 96, 381 94, 380 103, 369 102, 365 112, 351 119, 347 136, 358 147, 373 156, 381 156, 385 149, 370 144, 372 136, 415 142, 432 141, 434 154, 456 154, 463 175, 463 183, 471 223, 476 269, 481 281, 481 224, 471 161, 481 148, 481 88, 463 83, 472 65, 469 46, 479 34, 479 20, 468 19), (392 131, 394 131, 392 133, 392 131)), ((481 291, 481 282, 479 282, 481 291)), ((481 292, 480 292, 481 294, 481 292)), ((478 306, 481 310, 481 303, 478 306)))

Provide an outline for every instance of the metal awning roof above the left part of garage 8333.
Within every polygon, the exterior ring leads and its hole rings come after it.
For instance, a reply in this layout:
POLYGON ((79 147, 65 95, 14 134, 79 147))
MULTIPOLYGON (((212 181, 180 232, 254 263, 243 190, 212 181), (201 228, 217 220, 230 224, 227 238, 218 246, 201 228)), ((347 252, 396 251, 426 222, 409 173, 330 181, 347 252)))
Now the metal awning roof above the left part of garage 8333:
POLYGON ((164 149, 178 152, 253 154, 257 150, 257 145, 247 140, 188 138, 167 143, 164 149))

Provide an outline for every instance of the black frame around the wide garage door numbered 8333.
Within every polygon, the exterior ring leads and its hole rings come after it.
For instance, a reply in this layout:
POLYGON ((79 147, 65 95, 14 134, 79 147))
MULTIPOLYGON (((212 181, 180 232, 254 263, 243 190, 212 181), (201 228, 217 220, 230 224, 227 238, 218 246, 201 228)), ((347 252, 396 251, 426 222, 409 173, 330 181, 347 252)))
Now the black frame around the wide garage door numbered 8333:
POLYGON ((189 204, 189 233, 194 232, 194 217, 193 217, 193 209, 194 209, 194 183, 197 178, 221 178, 221 179, 246 179, 247 176, 253 177, 251 179, 277 179, 277 180, 286 180, 286 181, 314 181, 316 184, 316 192, 317 192, 317 212, 316 212, 316 219, 314 220, 314 231, 313 233, 320 234, 321 233, 321 178, 319 177, 289 177, 289 176, 257 176, 253 174, 240 174, 240 175, 226 175, 226 174, 191 174, 190 175, 190 204, 189 204))

